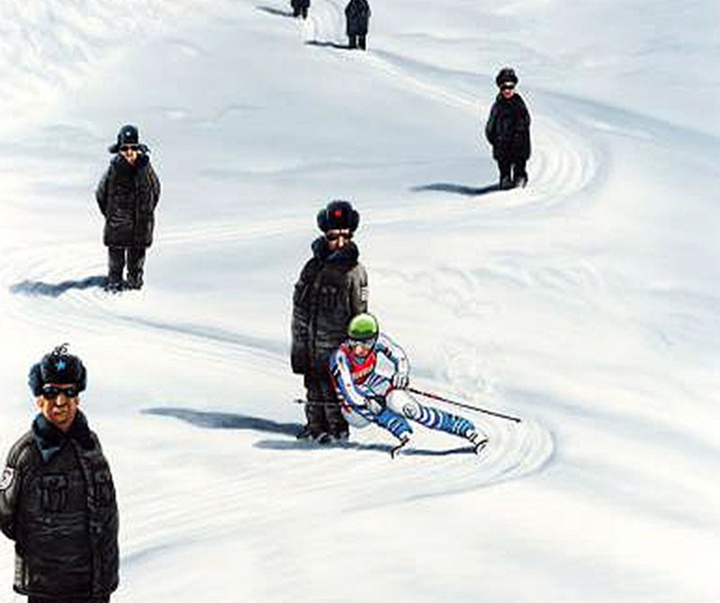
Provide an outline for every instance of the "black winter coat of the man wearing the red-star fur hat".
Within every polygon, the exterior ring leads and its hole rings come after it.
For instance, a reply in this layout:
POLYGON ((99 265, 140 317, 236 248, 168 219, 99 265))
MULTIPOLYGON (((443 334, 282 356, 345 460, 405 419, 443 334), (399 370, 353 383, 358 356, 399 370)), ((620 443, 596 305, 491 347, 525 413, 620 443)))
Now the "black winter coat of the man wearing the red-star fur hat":
POLYGON ((294 373, 322 377, 350 319, 367 312, 368 282, 354 243, 331 252, 320 237, 312 250, 295 284, 291 363, 294 373))

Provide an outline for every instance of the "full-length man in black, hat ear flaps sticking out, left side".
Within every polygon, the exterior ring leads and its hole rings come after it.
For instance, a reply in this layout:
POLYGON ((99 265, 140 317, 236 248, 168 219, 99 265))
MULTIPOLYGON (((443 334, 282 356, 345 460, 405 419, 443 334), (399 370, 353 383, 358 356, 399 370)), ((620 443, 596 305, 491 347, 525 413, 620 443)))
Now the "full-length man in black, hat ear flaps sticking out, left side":
POLYGON ((140 144, 138 129, 120 128, 108 149, 115 157, 100 180, 95 197, 105 217, 103 242, 108 248, 107 289, 143 286, 145 253, 152 245, 155 207, 160 200, 160 180, 150 165, 149 149, 140 144))

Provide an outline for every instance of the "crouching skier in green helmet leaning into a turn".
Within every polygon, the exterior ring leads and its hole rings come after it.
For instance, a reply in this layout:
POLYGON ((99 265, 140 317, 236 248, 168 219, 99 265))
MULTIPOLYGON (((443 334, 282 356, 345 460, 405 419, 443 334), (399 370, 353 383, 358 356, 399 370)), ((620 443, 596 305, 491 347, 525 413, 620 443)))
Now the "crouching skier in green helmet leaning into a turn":
POLYGON ((406 388, 410 384, 410 364, 403 349, 380 333, 372 314, 354 317, 347 339, 335 352, 331 369, 341 407, 348 423, 364 427, 375 423, 392 433, 398 444, 391 456, 404 447, 412 435, 408 419, 469 440, 476 452, 487 438, 471 421, 415 400, 406 388), (378 370, 378 360, 389 361, 391 374, 378 370))

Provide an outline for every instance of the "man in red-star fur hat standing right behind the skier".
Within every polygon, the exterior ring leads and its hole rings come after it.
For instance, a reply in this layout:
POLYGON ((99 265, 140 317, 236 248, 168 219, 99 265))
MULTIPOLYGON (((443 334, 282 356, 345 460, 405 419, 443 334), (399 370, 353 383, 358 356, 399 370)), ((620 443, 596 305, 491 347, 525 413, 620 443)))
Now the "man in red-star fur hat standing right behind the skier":
POLYGON ((300 439, 320 443, 348 437, 330 374, 330 356, 345 339, 350 320, 367 311, 367 273, 352 241, 360 215, 348 201, 332 201, 317 215, 324 235, 312 243, 313 257, 295 284, 291 364, 307 390, 307 424, 300 439))

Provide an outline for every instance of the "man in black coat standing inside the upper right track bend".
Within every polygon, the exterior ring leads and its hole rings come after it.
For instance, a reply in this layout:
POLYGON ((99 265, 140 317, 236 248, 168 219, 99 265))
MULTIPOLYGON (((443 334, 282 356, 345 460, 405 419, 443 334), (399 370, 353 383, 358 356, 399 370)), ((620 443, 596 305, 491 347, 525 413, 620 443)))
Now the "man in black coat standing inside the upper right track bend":
POLYGON ((485 125, 485 136, 493 147, 493 158, 500 170, 500 188, 525 186, 525 164, 530 158, 530 113, 515 91, 518 77, 510 67, 495 78, 500 89, 485 125))

